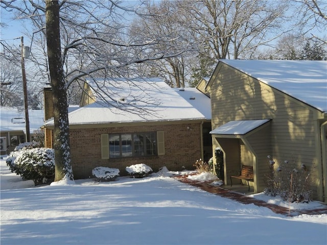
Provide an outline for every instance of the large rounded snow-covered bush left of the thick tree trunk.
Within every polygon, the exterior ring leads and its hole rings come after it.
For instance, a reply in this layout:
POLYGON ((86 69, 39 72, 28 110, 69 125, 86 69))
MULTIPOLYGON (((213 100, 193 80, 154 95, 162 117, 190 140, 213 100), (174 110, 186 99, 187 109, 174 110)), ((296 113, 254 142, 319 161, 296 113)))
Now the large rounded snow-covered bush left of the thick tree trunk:
MULTIPOLYGON (((14 152, 8 161, 10 170, 35 185, 51 183, 55 177, 55 153, 50 148, 33 148, 14 152)), ((11 155, 9 155, 10 158, 11 155)))

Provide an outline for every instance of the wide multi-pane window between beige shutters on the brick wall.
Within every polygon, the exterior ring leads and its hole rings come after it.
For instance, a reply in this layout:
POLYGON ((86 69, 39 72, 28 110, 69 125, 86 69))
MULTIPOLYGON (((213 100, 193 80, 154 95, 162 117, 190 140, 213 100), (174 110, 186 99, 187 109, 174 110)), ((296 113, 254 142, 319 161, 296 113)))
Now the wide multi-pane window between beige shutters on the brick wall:
POLYGON ((109 158, 157 155, 156 133, 109 134, 109 158))

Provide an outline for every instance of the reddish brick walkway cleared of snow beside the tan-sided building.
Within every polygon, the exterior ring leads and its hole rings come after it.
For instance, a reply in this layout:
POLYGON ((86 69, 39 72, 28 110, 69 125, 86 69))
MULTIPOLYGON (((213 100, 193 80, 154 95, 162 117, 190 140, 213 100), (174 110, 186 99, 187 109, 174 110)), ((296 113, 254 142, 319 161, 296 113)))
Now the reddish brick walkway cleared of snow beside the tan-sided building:
POLYGON ((327 206, 325 208, 321 209, 309 209, 309 210, 289 210, 288 208, 281 207, 275 204, 269 204, 261 200, 256 200, 254 198, 248 197, 247 195, 244 195, 239 192, 235 192, 232 190, 224 189, 220 186, 216 186, 211 184, 211 182, 199 182, 195 180, 190 180, 187 178, 188 176, 175 176, 174 179, 190 184, 192 186, 198 187, 202 190, 205 190, 210 193, 214 193, 216 195, 220 195, 223 198, 228 198, 231 200, 235 200, 237 202, 243 203, 243 204, 254 204, 256 206, 266 207, 271 209, 273 212, 278 214, 283 214, 287 216, 297 216, 300 214, 324 214, 327 213, 327 206))

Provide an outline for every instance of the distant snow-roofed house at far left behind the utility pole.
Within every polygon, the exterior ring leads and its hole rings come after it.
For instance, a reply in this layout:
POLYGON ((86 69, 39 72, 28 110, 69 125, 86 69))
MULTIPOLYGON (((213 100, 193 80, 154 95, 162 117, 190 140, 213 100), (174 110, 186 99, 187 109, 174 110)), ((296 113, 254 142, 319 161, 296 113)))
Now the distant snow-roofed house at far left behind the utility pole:
MULTIPOLYGON (((30 135, 44 124, 43 110, 29 110, 30 135)), ((0 107, 1 154, 9 154, 15 147, 26 142, 26 125, 24 109, 0 107)))

